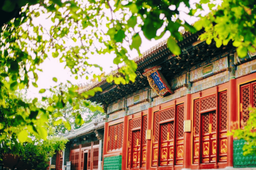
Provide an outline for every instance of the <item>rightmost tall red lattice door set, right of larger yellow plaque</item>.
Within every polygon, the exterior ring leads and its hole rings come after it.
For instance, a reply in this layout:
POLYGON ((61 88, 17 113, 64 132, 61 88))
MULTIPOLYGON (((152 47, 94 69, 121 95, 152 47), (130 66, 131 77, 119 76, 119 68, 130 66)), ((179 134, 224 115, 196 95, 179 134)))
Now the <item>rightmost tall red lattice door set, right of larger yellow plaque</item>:
POLYGON ((226 161, 227 91, 223 91, 194 100, 193 163, 226 161))

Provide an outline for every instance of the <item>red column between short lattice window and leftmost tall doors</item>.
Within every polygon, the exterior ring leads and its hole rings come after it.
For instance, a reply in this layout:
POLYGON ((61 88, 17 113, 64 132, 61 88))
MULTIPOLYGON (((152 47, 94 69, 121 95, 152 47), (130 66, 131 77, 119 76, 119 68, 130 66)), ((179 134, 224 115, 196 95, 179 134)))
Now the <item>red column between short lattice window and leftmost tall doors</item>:
POLYGON ((127 139, 128 139, 128 116, 124 116, 124 131, 123 131, 123 146, 122 146, 122 169, 126 169, 126 157, 127 157, 127 139))

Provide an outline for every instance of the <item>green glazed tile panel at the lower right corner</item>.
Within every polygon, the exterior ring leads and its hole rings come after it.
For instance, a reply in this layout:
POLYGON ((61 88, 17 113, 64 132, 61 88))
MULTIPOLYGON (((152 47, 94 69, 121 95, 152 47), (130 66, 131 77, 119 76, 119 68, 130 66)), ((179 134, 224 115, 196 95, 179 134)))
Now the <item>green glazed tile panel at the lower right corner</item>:
POLYGON ((243 155, 243 146, 245 140, 239 139, 233 141, 233 165, 234 168, 246 168, 246 167, 256 167, 256 156, 253 155, 243 155))

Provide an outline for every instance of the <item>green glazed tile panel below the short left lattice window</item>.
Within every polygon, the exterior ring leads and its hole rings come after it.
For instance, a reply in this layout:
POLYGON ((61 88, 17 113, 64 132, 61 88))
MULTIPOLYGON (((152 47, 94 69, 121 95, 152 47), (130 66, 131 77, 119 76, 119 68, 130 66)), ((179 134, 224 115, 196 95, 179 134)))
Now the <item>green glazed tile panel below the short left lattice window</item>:
POLYGON ((122 155, 104 157, 104 170, 121 170, 122 169, 122 155))

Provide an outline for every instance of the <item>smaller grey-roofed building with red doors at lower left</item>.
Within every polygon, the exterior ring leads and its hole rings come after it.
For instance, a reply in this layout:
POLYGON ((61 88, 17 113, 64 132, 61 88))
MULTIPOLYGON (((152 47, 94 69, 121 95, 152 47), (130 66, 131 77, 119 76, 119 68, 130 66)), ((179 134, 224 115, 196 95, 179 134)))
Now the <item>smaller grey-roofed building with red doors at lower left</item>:
POLYGON ((103 158, 103 117, 64 134, 69 141, 66 148, 57 152, 50 165, 55 170, 100 170, 103 158))

